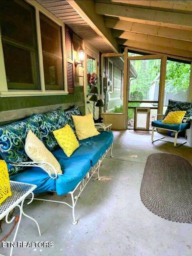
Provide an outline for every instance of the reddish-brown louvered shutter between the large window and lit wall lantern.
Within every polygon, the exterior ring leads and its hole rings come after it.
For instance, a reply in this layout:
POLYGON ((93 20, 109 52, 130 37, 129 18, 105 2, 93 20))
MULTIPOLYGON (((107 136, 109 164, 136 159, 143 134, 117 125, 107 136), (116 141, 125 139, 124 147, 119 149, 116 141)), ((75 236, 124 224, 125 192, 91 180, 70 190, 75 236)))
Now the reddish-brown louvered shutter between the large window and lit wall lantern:
POLYGON ((67 52, 67 89, 69 93, 74 93, 73 75, 73 30, 65 25, 65 40, 67 52))

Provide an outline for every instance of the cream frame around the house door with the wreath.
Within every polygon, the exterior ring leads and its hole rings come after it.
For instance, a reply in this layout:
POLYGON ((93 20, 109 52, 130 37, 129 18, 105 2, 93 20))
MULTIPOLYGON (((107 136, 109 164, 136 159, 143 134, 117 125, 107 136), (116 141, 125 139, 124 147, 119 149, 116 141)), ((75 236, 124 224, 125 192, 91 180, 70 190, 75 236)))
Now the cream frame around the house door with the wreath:
MULTIPOLYGON (((96 73, 98 76, 98 92, 100 95, 100 81, 99 81, 99 50, 97 50, 92 44, 87 42, 86 40, 83 40, 83 49, 85 49, 85 60, 84 60, 84 102, 85 102, 85 115, 87 114, 87 55, 91 56, 89 54, 92 52, 92 54, 95 54, 97 56, 97 62, 96 62, 96 73), (89 53, 88 53, 89 52, 89 53)), ((98 99, 99 99, 98 95, 98 99)), ((97 108, 95 108, 95 113, 97 114, 97 108)))

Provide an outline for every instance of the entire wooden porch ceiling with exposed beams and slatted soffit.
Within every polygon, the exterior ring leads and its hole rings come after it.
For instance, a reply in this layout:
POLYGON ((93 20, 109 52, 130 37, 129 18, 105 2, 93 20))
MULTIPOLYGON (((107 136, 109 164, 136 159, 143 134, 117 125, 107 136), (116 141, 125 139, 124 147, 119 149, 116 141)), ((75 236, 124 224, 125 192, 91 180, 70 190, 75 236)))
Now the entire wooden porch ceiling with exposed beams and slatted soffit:
POLYGON ((192 59, 192 0, 37 1, 102 53, 119 44, 192 59))

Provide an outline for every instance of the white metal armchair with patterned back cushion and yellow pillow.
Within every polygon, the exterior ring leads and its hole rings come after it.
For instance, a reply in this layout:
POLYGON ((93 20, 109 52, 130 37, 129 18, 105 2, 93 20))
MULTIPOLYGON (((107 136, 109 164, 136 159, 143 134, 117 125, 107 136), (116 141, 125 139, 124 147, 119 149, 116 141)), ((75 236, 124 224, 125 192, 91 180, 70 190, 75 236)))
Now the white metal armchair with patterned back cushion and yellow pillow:
POLYGON ((192 117, 192 103, 180 102, 176 100, 169 100, 167 110, 165 114, 157 114, 156 116, 163 116, 162 120, 153 120, 152 126, 152 142, 162 140, 165 142, 173 143, 175 147, 181 146, 186 143, 177 143, 178 133, 190 128, 190 118, 192 117), (162 130, 168 130, 175 132, 174 142, 163 140, 165 137, 161 137, 154 140, 154 129, 160 128, 162 130))

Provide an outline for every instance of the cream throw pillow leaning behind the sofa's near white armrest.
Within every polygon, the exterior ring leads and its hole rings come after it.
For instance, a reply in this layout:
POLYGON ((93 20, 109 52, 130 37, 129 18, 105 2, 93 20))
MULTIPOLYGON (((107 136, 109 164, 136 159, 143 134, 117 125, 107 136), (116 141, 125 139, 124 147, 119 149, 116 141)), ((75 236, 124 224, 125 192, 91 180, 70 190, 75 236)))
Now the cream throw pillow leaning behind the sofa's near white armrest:
MULTIPOLYGON (((34 162, 48 162, 55 167, 58 174, 62 174, 61 166, 57 159, 31 130, 27 134, 25 152, 34 162)), ((53 168, 49 165, 46 165, 46 167, 50 175, 55 174, 53 168)))

